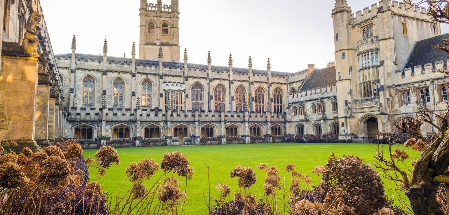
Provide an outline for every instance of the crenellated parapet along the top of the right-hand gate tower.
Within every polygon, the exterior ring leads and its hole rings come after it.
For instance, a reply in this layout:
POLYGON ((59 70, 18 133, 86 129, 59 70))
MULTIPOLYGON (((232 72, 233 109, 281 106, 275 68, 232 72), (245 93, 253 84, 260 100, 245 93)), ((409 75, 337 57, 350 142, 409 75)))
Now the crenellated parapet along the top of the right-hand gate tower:
POLYGON ((354 14, 351 14, 352 25, 357 25, 358 23, 364 22, 365 20, 371 19, 377 16, 378 13, 383 13, 386 11, 392 11, 393 14, 405 17, 412 17, 415 19, 422 19, 430 21, 430 17, 425 14, 426 9, 421 7, 410 8, 403 2, 392 1, 392 0, 381 0, 379 5, 372 4, 370 7, 366 7, 359 10, 354 14))

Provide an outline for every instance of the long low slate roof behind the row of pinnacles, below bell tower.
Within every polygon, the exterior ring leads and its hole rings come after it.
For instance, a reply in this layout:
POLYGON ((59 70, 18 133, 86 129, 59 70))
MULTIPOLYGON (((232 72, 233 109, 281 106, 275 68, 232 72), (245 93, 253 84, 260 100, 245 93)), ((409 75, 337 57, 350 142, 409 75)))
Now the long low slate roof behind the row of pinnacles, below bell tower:
MULTIPOLYGON (((57 55, 56 58, 57 59, 61 59, 64 58, 66 60, 69 59, 69 57, 71 57, 71 54, 61 54, 61 55, 57 55)), ((99 62, 101 62, 103 60, 103 56, 101 55, 88 55, 88 54, 76 54, 76 58, 80 59, 80 60, 84 60, 84 61, 89 61, 91 60, 92 62, 94 62, 94 60, 98 60, 99 62)), ((112 57, 112 56, 108 56, 107 60, 110 61, 111 64, 131 64, 132 63, 132 59, 131 58, 125 58, 125 57, 112 57)), ((145 60, 145 59, 136 59, 136 65, 159 65, 159 61, 158 60, 145 60)), ((172 61, 163 61, 163 65, 164 66, 172 66, 172 67, 183 67, 184 63, 180 63, 180 62, 172 62, 172 61)), ((207 69, 207 64, 187 64, 187 67, 189 69, 207 69)), ((212 70, 222 70, 222 71, 229 71, 229 66, 214 66, 212 65, 212 70)), ((248 73, 249 69, 248 68, 238 68, 238 67, 233 67, 233 71, 236 73, 248 73)), ((255 74, 268 74, 267 70, 260 70, 260 69, 253 69, 253 73, 255 74)), ((293 73, 286 73, 286 72, 277 72, 277 71, 271 71, 272 75, 284 75, 284 76, 288 76, 291 75, 293 73)))

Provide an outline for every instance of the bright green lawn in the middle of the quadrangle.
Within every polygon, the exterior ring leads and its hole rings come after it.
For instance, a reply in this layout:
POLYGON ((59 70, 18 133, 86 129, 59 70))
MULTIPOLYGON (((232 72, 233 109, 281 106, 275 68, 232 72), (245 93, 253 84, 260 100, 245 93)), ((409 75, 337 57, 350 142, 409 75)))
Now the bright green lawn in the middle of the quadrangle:
MULTIPOLYGON (((377 145, 376 145, 377 146, 377 145)), ((397 146, 404 148, 403 146, 397 146)), ((84 157, 92 156, 97 150, 84 150, 84 157)), ((335 153, 336 156, 357 155, 364 159, 365 163, 374 162, 375 150, 372 144, 359 143, 265 143, 246 145, 212 145, 212 146, 168 146, 168 147, 141 147, 141 148, 118 148, 120 155, 120 165, 113 166, 107 170, 106 176, 100 177, 100 183, 104 183, 106 189, 113 197, 118 194, 119 188, 125 176, 125 169, 128 163, 138 162, 144 158, 154 159, 160 164, 160 160, 165 152, 180 151, 188 159, 190 165, 195 169, 194 179, 187 182, 188 203, 185 206, 186 214, 207 214, 207 207, 203 198, 203 192, 207 196, 207 168, 210 167, 211 195, 215 199, 219 192, 214 189, 220 181, 228 184, 231 191, 238 190, 237 178, 231 178, 229 172, 237 165, 253 167, 259 163, 268 163, 270 166, 277 166, 281 175, 287 176, 286 181, 290 181, 285 171, 288 163, 295 163, 296 170, 310 176, 313 185, 319 182, 319 176, 312 174, 312 169, 316 166, 325 165, 329 155, 335 153)), ((419 153, 406 150, 412 156, 419 153)), ((409 161, 407 161, 408 163, 409 161)), ((263 182, 260 170, 256 170, 258 181, 254 186, 257 194, 263 193, 263 182)), ((156 173, 153 180, 162 174, 156 173)), ((92 179, 97 177, 97 172, 92 171, 92 179)), ((184 180, 181 187, 184 187, 184 180)), ((147 183, 150 185, 150 183, 147 183)), ((125 190, 130 189, 132 184, 127 179, 123 185, 125 190)), ((392 191, 389 196, 397 193, 392 191)), ((232 198, 228 197, 228 200, 232 198)))

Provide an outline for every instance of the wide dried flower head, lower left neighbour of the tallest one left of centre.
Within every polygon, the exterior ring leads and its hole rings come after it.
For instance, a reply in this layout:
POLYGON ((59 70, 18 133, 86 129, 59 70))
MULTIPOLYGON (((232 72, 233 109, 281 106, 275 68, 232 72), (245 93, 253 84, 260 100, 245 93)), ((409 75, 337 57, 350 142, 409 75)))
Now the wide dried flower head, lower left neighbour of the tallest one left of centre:
POLYGON ((159 170, 159 165, 154 162, 153 159, 143 159, 136 163, 128 164, 126 173, 129 175, 129 181, 136 182, 146 179, 150 180, 150 177, 159 170))

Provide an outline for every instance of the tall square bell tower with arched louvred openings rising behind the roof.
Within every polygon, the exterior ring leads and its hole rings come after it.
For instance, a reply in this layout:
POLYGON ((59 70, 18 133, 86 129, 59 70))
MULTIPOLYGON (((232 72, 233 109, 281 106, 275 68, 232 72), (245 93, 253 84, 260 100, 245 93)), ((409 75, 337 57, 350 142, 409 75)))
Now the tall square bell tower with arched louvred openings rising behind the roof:
POLYGON ((148 4, 141 0, 139 58, 158 60, 159 48, 162 47, 164 61, 180 62, 179 46, 179 0, 172 0, 171 5, 148 4))

